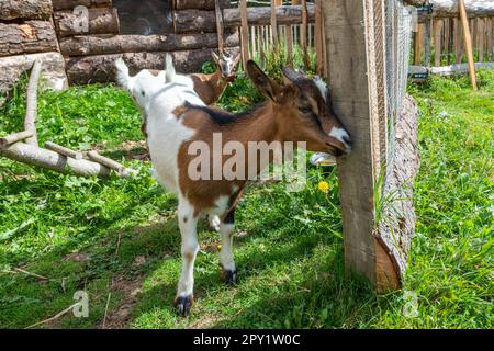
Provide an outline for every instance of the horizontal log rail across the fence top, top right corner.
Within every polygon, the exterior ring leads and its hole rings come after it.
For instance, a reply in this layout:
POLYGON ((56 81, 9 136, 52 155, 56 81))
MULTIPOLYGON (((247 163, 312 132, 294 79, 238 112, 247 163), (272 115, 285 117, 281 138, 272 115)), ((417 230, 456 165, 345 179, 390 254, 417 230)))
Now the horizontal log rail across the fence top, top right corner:
MULTIPOLYGON (((406 1, 405 1, 406 2, 406 1)), ((419 1, 424 3, 424 1, 419 1)), ((433 4, 433 18, 458 18, 458 0, 429 0, 433 4)), ((494 1, 467 0, 465 11, 469 18, 490 18, 494 16, 494 1)), ((419 15, 418 21, 424 22, 427 15, 419 15)))

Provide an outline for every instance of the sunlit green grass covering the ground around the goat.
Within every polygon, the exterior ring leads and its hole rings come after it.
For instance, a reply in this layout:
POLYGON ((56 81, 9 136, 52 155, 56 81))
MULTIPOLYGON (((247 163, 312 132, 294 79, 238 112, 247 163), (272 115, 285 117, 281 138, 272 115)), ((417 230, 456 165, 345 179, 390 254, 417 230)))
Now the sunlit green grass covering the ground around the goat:
MULTIPOLYGON (((0 327, 49 318, 85 290, 88 318, 67 314, 38 327, 94 328, 112 292, 109 316, 125 316, 121 306, 130 306, 123 322, 132 328, 492 328, 494 73, 481 71, 479 80, 478 92, 465 77, 409 87, 420 106, 422 167, 403 291, 377 295, 345 275, 336 172, 311 168, 300 193, 282 184, 247 190, 236 218, 235 287, 220 281, 218 235, 201 225, 189 318, 177 317, 172 306, 180 270, 177 201, 151 179, 149 162, 121 150, 141 139, 132 101, 112 86, 41 94, 42 143, 98 145, 141 172, 86 180, 0 159, 0 327), (321 180, 330 185, 327 194, 317 190, 321 180), (418 316, 403 313, 409 294, 418 316)), ((21 128, 22 91, 23 84, 0 110, 0 135, 21 128)), ((258 99, 240 78, 221 104, 239 111, 258 99)))

